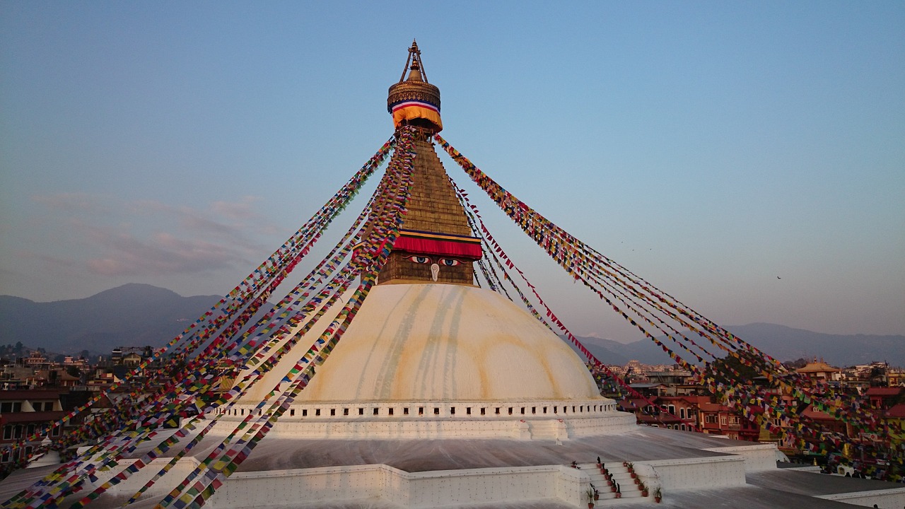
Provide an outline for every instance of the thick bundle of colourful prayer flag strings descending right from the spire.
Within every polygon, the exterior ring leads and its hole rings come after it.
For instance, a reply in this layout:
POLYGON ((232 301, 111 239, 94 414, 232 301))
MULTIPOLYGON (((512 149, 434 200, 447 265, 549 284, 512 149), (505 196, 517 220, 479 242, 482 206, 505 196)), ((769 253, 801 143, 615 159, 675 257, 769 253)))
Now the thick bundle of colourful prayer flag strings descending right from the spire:
MULTIPOLYGON (((730 407, 739 408, 743 415, 755 422, 758 427, 766 427, 768 431, 783 437, 794 429, 802 447, 814 448, 811 443, 805 441, 805 437, 826 437, 826 433, 822 433, 821 425, 798 411, 799 405, 810 404, 841 418, 861 432, 877 428, 875 416, 861 408, 853 396, 834 392, 830 388, 810 389, 802 383, 799 376, 786 370, 775 359, 720 328, 716 323, 710 322, 672 295, 655 288, 540 216, 537 211, 519 201, 475 167, 440 135, 434 135, 434 139, 465 170, 475 184, 562 266, 567 274, 596 293, 614 312, 660 346, 672 360, 695 374, 700 383, 725 400, 730 407), (659 336, 648 331, 648 327, 659 336), (690 331, 691 334, 679 332, 680 329, 690 331), (707 341, 710 347, 726 352, 734 360, 766 376, 771 383, 791 394, 795 401, 786 404, 786 401, 777 394, 771 394, 766 388, 748 383, 738 370, 725 363, 720 363, 723 372, 718 379, 709 371, 710 362, 718 358, 690 336, 699 336, 707 341), (672 341, 671 344, 678 345, 685 354, 673 351, 664 341, 672 341), (690 355, 698 362, 705 362, 704 368, 685 360, 683 355, 690 355), (761 418, 761 415, 764 418, 761 418), (776 427, 770 422, 770 418, 781 419, 783 426, 776 427)), ((556 315, 550 313, 549 318, 560 330, 565 331, 565 326, 556 315)), ((567 336, 573 341, 571 334, 567 336)), ((591 360, 590 352, 580 346, 579 349, 591 360)), ((857 446, 847 437, 838 434, 831 436, 836 444, 847 442, 857 446)))

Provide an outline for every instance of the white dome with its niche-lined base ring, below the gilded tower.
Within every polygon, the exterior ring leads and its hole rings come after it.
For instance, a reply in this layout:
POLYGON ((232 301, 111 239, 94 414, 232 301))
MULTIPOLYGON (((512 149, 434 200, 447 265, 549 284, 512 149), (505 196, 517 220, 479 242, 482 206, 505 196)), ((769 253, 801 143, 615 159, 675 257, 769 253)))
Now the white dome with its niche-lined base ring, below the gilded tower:
MULTIPOLYGON (((342 307, 327 310, 224 420, 259 412, 342 307)), ((316 370, 271 434, 558 440, 634 425, 565 341, 500 293, 468 284, 374 286, 316 370)))

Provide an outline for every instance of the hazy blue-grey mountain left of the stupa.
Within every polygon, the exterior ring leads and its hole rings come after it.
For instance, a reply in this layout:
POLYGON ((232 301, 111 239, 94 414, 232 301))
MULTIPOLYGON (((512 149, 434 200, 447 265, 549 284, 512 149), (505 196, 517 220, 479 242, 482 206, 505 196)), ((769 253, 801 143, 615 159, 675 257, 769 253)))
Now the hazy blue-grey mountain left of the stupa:
POLYGON ((219 300, 219 295, 183 297, 138 283, 52 303, 0 295, 0 344, 22 341, 62 353, 162 346, 219 300))

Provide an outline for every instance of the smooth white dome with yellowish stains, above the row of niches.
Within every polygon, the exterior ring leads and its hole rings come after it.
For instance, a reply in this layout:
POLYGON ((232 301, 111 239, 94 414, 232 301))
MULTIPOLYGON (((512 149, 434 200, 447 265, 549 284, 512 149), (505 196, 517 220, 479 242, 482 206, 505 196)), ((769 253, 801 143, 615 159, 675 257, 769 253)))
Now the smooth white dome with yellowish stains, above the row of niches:
POLYGON ((421 283, 374 287, 296 400, 597 397, 576 353, 500 293, 421 283))

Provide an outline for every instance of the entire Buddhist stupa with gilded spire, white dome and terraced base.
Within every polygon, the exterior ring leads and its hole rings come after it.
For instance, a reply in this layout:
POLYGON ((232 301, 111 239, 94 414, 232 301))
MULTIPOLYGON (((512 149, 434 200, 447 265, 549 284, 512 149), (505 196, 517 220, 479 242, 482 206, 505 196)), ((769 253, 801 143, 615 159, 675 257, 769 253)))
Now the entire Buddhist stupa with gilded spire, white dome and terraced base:
MULTIPOLYGON (((438 157, 434 135, 443 129, 440 106, 440 91, 427 81, 413 43, 402 78, 389 88, 387 99, 395 130, 413 133, 409 150, 396 150, 389 162, 392 167, 404 164, 402 158, 411 160, 409 196, 386 263, 354 321, 348 322, 341 341, 312 349, 356 299, 349 287, 335 301, 319 302, 317 313, 293 323, 296 340, 287 335, 271 345, 287 353, 232 405, 207 409, 196 418, 195 432, 216 422, 133 505, 155 507, 216 447, 234 441, 224 442, 224 437, 262 414, 262 401, 271 398, 274 387, 282 389, 281 380, 295 376, 306 355, 314 360, 310 368, 303 367, 310 378, 205 505, 903 505, 905 493, 900 492, 905 490, 890 489, 894 485, 821 475, 815 467, 779 468, 782 455, 773 443, 640 426, 633 414, 617 410, 613 399, 600 395, 586 361, 561 337, 522 306, 475 283, 475 265, 485 247, 438 157), (598 496, 589 500, 594 489, 598 496)), ((377 216, 372 210, 364 219, 353 248, 361 256, 367 250, 361 239, 381 228, 377 216)), ((251 362, 237 370, 224 379, 224 390, 239 387, 259 366, 251 362)), ((96 472, 81 495, 115 477, 162 437, 131 451, 117 467, 96 472)), ((167 465, 174 454, 161 454, 150 463, 167 465)), ((14 473, 0 484, 0 498, 12 496, 48 469, 52 466, 14 473)), ((129 502, 158 470, 139 470, 89 506, 129 502)), ((60 506, 81 495, 67 497, 60 506)))

